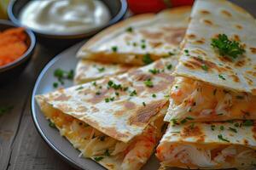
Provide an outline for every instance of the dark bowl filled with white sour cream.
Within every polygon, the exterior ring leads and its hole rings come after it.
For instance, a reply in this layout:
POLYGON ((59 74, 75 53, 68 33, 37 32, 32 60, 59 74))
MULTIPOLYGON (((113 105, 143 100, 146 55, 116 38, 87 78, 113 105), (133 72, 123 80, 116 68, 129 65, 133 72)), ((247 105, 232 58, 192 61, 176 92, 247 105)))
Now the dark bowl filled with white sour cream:
POLYGON ((125 0, 10 1, 9 19, 35 32, 47 48, 64 49, 121 20, 125 0))

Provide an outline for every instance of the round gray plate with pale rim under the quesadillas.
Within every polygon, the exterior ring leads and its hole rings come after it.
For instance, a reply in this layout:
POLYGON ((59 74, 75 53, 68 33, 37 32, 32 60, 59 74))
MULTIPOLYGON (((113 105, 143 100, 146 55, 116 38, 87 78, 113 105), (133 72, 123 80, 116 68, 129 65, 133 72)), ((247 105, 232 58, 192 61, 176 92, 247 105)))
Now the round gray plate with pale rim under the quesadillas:
MULTIPOLYGON (((75 54, 83 43, 84 42, 80 42, 72 48, 68 48, 61 54, 57 55, 54 59, 49 61, 48 65, 46 65, 43 71, 41 71, 32 92, 32 118, 38 128, 38 132, 46 143, 74 167, 86 170, 104 170, 105 168, 97 164, 95 161, 79 157, 79 150, 75 150, 73 145, 70 144, 67 139, 61 137, 57 129, 49 127, 49 122, 45 119, 34 98, 37 94, 46 94, 55 90, 52 86, 52 83, 56 82, 55 77, 53 77, 55 69, 61 68, 67 71, 75 69, 78 63, 78 59, 75 57, 75 54)), ((72 85, 73 82, 66 81, 64 88, 72 85)), ((147 165, 143 167, 143 170, 156 170, 158 167, 159 162, 154 156, 152 156, 147 165)))

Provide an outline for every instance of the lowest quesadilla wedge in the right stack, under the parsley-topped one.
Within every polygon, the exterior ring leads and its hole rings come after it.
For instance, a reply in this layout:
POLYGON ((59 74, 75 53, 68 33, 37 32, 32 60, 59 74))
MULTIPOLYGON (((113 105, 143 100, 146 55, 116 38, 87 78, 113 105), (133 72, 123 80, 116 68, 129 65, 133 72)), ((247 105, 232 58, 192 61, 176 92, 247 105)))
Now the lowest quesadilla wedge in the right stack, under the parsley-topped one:
POLYGON ((156 149, 162 167, 255 169, 256 123, 169 125, 156 149))

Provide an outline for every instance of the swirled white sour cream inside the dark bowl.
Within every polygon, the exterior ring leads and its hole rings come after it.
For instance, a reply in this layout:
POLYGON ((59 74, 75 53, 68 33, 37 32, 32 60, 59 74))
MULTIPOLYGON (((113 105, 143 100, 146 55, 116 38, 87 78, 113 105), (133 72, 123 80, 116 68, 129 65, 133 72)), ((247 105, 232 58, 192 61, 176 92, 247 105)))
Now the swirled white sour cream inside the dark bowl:
POLYGON ((77 34, 103 26, 111 19, 100 0, 33 0, 20 12, 23 26, 52 34, 77 34))

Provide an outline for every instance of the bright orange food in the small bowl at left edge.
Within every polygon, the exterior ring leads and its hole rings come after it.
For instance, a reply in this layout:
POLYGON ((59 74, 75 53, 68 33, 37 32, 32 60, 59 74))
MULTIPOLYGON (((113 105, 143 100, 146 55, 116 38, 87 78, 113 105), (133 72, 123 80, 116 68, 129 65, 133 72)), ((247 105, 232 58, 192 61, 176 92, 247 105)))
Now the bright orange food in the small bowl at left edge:
POLYGON ((10 28, 0 32, 0 66, 19 59, 27 50, 24 28, 10 28))

